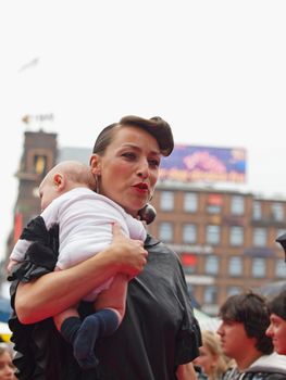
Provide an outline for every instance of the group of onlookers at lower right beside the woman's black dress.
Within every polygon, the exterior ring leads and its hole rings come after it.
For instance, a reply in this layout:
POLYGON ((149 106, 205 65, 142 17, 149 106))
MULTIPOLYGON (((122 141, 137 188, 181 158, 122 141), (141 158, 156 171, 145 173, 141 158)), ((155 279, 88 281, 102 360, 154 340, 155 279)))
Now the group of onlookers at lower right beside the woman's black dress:
POLYGON ((202 331, 198 379, 286 379, 286 291, 271 300, 252 291, 229 296, 220 317, 217 331, 202 331))

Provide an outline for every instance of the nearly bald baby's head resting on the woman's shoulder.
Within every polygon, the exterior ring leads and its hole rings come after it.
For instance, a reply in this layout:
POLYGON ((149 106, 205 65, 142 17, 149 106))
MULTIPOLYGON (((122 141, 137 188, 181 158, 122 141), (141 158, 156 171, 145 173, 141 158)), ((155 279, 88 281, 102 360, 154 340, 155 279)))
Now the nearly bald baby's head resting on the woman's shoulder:
POLYGON ((48 172, 39 186, 41 210, 69 190, 86 187, 95 191, 96 186, 96 179, 89 166, 78 161, 63 161, 48 172))

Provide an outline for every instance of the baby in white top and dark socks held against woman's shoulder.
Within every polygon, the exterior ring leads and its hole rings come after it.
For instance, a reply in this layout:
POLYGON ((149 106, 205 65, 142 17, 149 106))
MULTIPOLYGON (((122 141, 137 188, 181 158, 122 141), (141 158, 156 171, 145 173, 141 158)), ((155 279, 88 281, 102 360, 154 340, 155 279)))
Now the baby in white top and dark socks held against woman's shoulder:
MULTIPOLYGON (((66 269, 107 248, 112 241, 112 223, 117 223, 126 236, 144 242, 144 224, 95 190, 96 179, 87 165, 76 161, 55 165, 39 186, 42 213, 29 223, 15 244, 9 271, 24 261, 26 252, 29 255, 38 250, 45 252, 42 242, 55 224, 60 226, 55 270, 66 269)), ((75 358, 83 368, 97 365, 94 353, 97 338, 119 327, 125 312, 127 282, 128 278, 119 274, 87 294, 85 300, 95 302, 97 313, 83 322, 76 307, 53 316, 58 330, 73 344, 75 358)))

